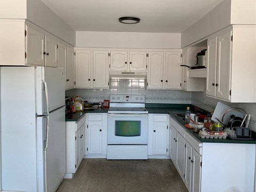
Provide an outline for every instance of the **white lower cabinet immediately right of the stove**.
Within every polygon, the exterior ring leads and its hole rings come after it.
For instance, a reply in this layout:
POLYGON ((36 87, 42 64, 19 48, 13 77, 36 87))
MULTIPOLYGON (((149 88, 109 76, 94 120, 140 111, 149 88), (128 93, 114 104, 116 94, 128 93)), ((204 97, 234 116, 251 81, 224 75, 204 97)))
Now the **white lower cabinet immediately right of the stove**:
POLYGON ((169 155, 169 115, 149 114, 148 155, 165 158, 169 155))

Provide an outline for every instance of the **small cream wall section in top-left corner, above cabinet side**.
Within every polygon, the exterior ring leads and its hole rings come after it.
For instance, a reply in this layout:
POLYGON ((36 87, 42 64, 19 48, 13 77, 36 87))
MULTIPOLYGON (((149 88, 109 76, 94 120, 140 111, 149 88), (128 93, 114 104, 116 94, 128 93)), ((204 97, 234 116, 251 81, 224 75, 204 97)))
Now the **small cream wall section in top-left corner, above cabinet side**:
POLYGON ((1 19, 26 19, 27 0, 1 0, 1 19))

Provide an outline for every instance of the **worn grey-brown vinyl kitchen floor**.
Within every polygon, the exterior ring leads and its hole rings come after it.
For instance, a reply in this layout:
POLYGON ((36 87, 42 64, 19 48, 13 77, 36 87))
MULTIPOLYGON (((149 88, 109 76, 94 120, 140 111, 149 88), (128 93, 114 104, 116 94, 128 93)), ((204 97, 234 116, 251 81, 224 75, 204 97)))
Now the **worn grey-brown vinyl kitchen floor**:
POLYGON ((57 192, 187 192, 170 159, 83 159, 57 192))

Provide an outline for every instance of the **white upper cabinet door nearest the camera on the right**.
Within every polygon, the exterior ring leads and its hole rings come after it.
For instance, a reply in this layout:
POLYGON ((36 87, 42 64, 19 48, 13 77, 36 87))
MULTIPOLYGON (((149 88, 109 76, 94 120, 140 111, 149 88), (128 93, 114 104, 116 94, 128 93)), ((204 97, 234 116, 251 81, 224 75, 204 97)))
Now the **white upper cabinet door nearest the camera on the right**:
MULTIPOLYGON (((230 100, 230 73, 231 73, 231 35, 232 31, 218 36, 217 59, 217 98, 230 100)), ((242 65, 241 65, 242 67, 242 65)))

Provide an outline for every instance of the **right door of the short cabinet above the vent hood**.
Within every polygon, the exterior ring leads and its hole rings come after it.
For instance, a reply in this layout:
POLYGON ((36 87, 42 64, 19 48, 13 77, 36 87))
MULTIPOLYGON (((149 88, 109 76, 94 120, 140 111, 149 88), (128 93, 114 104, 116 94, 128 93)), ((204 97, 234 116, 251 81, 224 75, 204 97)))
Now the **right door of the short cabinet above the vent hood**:
POLYGON ((147 51, 129 51, 128 65, 130 71, 146 71, 147 51))

